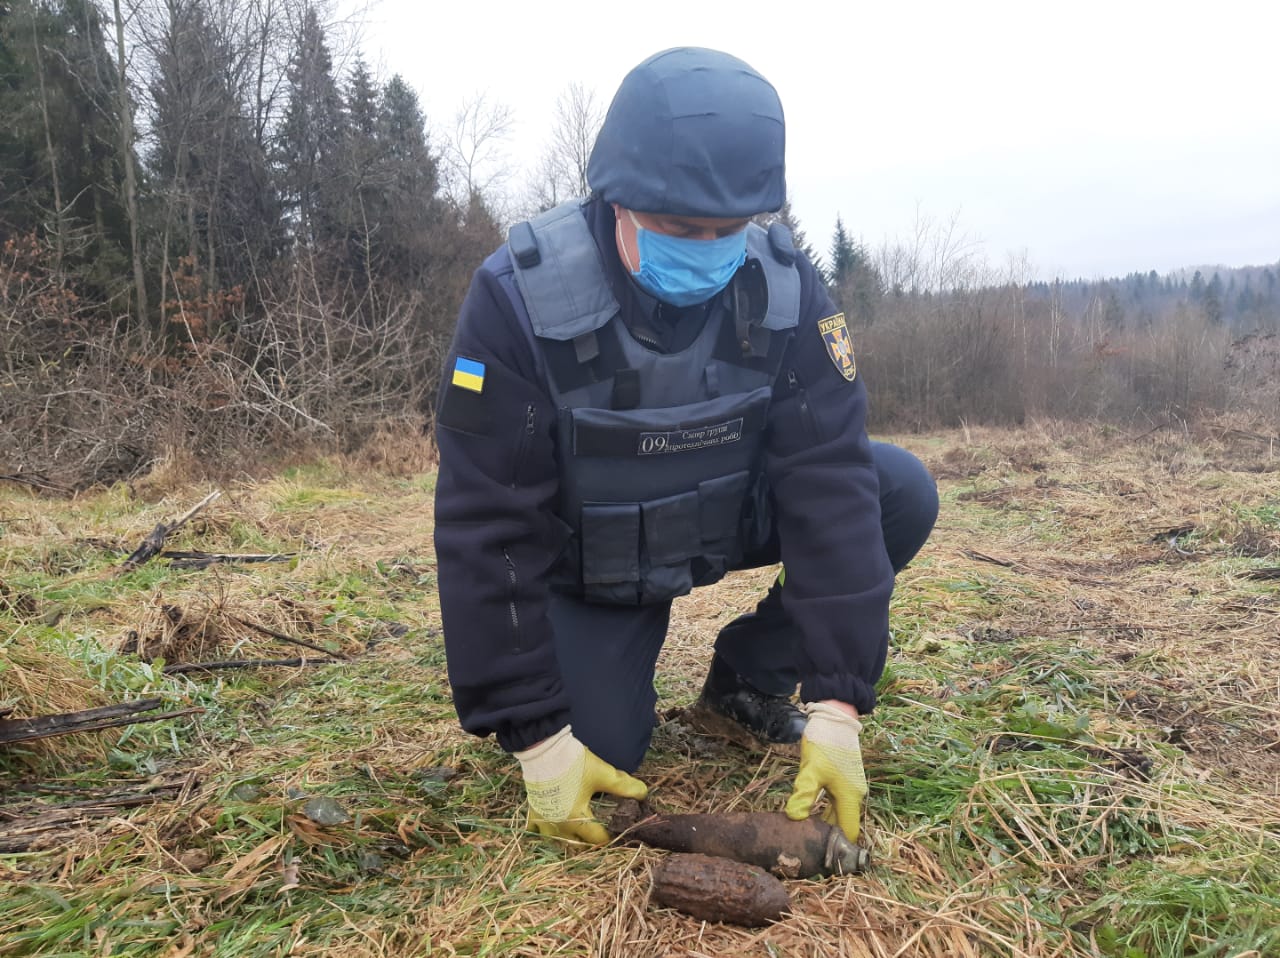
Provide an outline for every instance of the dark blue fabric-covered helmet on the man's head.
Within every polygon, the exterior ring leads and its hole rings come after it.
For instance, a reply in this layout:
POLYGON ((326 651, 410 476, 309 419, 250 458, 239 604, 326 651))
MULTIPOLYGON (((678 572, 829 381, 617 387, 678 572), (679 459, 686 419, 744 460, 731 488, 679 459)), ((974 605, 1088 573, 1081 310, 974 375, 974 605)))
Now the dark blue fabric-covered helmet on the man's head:
POLYGON ((736 56, 654 54, 609 104, 586 165, 608 202, 678 216, 754 216, 786 200, 778 92, 736 56))

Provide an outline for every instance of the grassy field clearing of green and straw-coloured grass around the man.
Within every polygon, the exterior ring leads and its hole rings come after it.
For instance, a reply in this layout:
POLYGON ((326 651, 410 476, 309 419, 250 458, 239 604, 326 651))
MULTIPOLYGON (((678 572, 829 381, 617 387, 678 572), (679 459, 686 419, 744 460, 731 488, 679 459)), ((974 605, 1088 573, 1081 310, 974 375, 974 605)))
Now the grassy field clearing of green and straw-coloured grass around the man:
MULTIPOLYGON (((762 930, 649 905, 662 852, 524 832, 515 763, 453 716, 421 464, 224 483, 166 547, 289 561, 123 574, 212 487, 0 483, 0 711, 205 710, 0 745, 0 955, 1280 955, 1280 448, 895 441, 943 505, 867 722, 874 866, 787 882, 762 930)), ((660 710, 771 575, 677 602, 660 710)), ((792 774, 677 720, 639 772, 669 811, 778 809, 792 774)))

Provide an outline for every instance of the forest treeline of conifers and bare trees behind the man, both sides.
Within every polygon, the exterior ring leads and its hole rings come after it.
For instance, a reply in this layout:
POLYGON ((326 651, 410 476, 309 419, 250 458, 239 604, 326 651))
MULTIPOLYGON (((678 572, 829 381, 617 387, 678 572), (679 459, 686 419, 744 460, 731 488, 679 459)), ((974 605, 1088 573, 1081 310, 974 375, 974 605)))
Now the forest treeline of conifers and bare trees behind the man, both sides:
MULTIPOLYGON (((603 111, 571 86, 513 197, 509 113, 424 117, 344 36, 312 0, 0 0, 0 475, 426 421, 472 270, 582 188, 603 111)), ((814 247, 778 218, 852 320, 876 429, 1280 411, 1280 265, 1043 283, 954 224, 814 247)))

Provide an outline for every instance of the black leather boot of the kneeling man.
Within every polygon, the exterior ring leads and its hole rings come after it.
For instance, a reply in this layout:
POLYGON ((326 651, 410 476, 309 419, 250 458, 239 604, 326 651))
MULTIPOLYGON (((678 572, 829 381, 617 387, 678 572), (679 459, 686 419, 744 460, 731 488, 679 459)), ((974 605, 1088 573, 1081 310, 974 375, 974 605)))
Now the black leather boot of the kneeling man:
POLYGON ((689 717, 699 730, 742 745, 795 745, 808 721, 787 695, 760 692, 718 656, 689 717))

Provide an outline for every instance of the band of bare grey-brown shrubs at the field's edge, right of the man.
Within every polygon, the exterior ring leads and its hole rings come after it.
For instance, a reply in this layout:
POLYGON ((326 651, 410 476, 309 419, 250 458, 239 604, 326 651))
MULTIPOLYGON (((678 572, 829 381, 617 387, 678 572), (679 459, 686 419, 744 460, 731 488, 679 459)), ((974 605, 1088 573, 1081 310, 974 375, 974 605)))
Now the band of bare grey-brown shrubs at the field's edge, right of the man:
POLYGON ((876 263, 884 300, 876 323, 858 333, 873 426, 1187 421, 1220 412, 1229 400, 1280 405, 1267 392, 1277 370, 1256 356, 1265 352, 1257 346, 1235 350, 1224 383, 1229 333, 1203 309, 1183 304, 1124 327, 1098 292, 1073 313, 1057 284, 1030 296, 1018 264, 998 275, 955 220, 918 220, 908 240, 882 246, 876 263))

